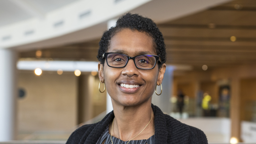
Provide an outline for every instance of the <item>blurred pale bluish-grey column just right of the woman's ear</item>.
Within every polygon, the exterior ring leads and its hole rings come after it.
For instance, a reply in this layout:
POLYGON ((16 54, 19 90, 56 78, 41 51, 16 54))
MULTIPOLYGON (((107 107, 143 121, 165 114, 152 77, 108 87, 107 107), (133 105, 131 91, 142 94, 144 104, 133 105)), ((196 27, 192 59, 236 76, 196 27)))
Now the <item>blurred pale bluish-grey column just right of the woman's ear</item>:
MULTIPOLYGON (((172 96, 172 81, 173 81, 173 67, 166 66, 166 71, 164 75, 164 80, 162 82, 162 94, 157 96, 155 93, 152 96, 152 103, 159 107, 162 112, 170 114, 171 112, 171 102, 170 98, 172 96)), ((160 93, 161 88, 157 86, 158 93, 160 93)))

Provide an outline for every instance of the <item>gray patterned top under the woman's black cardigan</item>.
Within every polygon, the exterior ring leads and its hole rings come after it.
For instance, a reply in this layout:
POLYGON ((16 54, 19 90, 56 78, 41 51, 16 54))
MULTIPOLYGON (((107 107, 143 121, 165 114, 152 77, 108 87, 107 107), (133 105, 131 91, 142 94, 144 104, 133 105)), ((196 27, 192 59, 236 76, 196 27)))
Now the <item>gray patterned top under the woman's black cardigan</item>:
MULTIPOLYGON (((110 134, 108 131, 109 126, 105 129, 105 131, 101 134, 101 137, 98 139, 96 144, 102 144, 103 141, 106 139, 104 144, 112 144, 110 139, 110 134)), ((117 139, 116 137, 112 136, 113 144, 127 144, 128 141, 123 141, 121 139, 117 139)), ((142 140, 131 140, 128 144, 154 144, 155 135, 152 135, 149 139, 142 139, 142 140)))

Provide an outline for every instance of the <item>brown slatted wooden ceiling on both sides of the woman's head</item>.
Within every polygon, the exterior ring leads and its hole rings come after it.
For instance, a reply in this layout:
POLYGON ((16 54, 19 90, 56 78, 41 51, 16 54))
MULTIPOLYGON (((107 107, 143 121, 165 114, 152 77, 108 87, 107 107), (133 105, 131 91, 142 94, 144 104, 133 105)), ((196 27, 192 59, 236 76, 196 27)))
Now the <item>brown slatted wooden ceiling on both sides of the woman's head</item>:
MULTIPOLYGON (((165 38, 167 64, 256 64, 256 0, 233 0, 158 27, 165 38)), ((99 40, 45 48, 40 59, 97 61, 99 40)), ((20 58, 36 58, 35 53, 21 52, 20 58)))

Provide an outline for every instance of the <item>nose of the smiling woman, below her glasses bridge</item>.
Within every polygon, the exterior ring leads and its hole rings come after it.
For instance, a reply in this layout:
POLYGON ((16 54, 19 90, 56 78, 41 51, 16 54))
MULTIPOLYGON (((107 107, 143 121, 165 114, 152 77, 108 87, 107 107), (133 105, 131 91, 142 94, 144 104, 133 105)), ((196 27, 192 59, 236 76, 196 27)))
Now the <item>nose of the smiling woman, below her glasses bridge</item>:
POLYGON ((122 75, 127 75, 129 77, 135 75, 138 76, 139 75, 139 71, 136 68, 133 59, 129 59, 127 65, 124 67, 123 71, 122 71, 122 75))

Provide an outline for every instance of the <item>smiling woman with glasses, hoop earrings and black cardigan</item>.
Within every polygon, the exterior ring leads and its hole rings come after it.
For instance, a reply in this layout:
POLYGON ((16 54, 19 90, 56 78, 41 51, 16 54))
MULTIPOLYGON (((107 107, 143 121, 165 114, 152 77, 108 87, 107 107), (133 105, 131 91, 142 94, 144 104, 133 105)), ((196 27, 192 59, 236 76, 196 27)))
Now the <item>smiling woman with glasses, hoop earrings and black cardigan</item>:
POLYGON ((67 144, 207 144, 201 130, 151 104, 166 68, 164 38, 151 19, 128 13, 103 33, 99 45, 99 78, 113 111, 75 130, 67 144))

